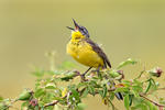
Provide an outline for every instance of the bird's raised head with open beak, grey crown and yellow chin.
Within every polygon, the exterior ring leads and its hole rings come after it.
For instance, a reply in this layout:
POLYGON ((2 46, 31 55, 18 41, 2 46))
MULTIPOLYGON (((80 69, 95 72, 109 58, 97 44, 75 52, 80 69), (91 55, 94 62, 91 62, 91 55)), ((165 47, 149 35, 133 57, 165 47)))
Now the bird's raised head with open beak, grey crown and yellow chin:
POLYGON ((67 29, 72 30, 72 38, 82 38, 89 37, 88 30, 85 26, 80 26, 76 21, 73 19, 75 29, 70 26, 66 26, 67 29))

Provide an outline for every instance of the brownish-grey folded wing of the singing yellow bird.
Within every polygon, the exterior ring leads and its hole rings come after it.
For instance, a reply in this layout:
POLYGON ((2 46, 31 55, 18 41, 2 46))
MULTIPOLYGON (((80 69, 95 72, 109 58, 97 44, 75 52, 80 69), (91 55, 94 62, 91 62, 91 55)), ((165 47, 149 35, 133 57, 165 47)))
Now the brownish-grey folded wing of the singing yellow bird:
POLYGON ((98 44, 96 44, 95 42, 92 42, 90 38, 86 37, 85 41, 91 45, 92 50, 103 59, 105 63, 105 67, 107 67, 107 65, 111 68, 111 64, 107 57, 107 55, 103 53, 103 51, 100 48, 100 46, 98 44))

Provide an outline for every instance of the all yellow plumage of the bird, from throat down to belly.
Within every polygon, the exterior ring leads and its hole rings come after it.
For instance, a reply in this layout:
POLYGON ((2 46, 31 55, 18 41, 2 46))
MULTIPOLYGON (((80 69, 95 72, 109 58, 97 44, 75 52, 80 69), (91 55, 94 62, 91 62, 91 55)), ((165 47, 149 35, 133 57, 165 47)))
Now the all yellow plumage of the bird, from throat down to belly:
POLYGON ((92 50, 91 45, 86 42, 85 35, 79 31, 72 32, 72 40, 67 44, 67 54, 73 56, 77 62, 89 67, 103 66, 102 58, 92 50))

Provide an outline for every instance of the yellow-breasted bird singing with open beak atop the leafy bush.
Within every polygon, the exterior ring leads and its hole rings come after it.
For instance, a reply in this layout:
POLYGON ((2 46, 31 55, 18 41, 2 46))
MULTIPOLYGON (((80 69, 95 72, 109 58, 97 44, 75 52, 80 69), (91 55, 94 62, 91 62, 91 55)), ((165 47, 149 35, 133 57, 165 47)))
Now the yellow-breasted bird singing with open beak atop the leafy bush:
MULTIPOLYGON (((89 67, 82 75, 85 76, 91 68, 97 68, 97 70, 111 68, 109 58, 102 48, 90 38, 88 30, 74 19, 73 22, 75 28, 67 26, 72 30, 72 37, 66 45, 66 53, 78 63, 89 67)), ((119 100, 123 99, 120 92, 117 92, 116 97, 119 100)))

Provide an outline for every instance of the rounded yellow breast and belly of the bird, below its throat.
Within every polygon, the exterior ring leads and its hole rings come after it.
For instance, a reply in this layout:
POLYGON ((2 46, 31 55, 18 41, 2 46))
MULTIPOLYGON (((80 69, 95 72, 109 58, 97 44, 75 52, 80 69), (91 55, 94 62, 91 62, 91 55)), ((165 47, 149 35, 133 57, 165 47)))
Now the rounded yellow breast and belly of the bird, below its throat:
POLYGON ((102 58, 92 50, 88 43, 79 43, 79 45, 69 42, 67 44, 67 53, 73 56, 77 62, 89 66, 99 67, 103 66, 102 58))

